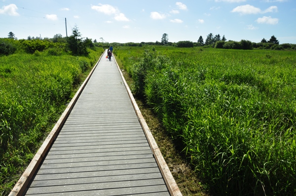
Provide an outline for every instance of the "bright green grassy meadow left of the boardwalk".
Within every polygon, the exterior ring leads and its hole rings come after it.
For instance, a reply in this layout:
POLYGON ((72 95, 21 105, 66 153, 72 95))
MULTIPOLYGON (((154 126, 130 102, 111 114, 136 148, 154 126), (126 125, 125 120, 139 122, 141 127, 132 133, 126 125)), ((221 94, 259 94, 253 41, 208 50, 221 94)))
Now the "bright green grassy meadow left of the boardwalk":
POLYGON ((0 56, 0 195, 8 195, 102 48, 88 56, 52 50, 0 56))

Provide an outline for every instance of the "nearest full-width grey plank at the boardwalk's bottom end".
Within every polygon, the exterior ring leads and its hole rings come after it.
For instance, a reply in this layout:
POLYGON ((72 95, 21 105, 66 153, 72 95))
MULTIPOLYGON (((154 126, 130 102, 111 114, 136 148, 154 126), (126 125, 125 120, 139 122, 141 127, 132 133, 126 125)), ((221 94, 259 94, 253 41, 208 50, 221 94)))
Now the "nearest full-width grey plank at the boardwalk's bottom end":
MULTIPOLYGON (((102 183, 88 183, 88 184, 75 184, 75 185, 60 185, 60 186, 47 186, 40 189, 38 187, 30 187, 26 195, 31 194, 45 194, 45 193, 65 193, 75 191, 88 191, 88 190, 105 190, 113 189, 116 192, 118 188, 126 187, 143 187, 153 185, 164 185, 165 183, 162 178, 158 179, 145 179, 145 180, 134 180, 134 181, 122 181, 122 182, 102 182, 102 183)), ((117 191, 118 192, 118 191, 117 191)), ((118 192, 120 194, 120 192, 118 192)))

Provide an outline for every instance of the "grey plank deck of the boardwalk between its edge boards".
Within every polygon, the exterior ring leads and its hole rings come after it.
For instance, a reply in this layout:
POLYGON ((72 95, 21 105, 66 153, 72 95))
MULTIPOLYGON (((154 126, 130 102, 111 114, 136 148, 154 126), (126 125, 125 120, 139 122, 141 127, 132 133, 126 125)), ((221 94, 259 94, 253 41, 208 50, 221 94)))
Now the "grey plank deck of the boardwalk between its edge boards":
POLYGON ((172 194, 170 180, 153 156, 114 57, 104 57, 29 182, 26 196, 181 195, 172 194))

